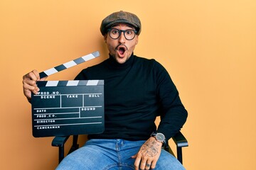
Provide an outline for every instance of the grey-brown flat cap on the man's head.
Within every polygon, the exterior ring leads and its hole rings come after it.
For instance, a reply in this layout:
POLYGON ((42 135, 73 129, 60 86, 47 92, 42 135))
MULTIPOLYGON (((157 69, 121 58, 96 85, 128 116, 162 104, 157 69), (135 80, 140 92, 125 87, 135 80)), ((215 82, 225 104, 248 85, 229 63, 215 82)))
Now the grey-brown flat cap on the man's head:
POLYGON ((114 12, 102 20, 100 26, 100 32, 102 35, 107 33, 107 29, 113 26, 115 23, 127 23, 137 30, 137 34, 141 33, 142 24, 139 18, 134 13, 129 13, 125 11, 114 12))

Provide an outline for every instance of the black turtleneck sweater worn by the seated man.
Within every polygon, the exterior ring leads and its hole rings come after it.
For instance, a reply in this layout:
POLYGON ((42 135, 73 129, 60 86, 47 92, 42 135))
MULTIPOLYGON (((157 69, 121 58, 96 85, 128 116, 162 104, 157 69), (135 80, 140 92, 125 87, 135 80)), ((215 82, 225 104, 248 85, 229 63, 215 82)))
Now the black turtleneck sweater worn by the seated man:
POLYGON ((187 111, 166 69, 156 60, 132 55, 124 64, 110 56, 83 69, 77 80, 105 81, 105 131, 90 139, 147 140, 156 131, 154 120, 161 115, 157 132, 166 139, 186 122, 187 111))

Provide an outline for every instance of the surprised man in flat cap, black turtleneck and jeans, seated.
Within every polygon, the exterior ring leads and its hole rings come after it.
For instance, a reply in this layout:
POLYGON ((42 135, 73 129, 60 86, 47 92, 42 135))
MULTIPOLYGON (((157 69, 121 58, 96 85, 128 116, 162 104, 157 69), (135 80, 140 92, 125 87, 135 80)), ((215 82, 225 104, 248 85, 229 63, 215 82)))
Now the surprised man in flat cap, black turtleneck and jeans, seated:
MULTIPOLYGON (((161 149, 186 122, 187 112, 166 69, 134 55, 142 26, 133 13, 119 11, 100 26, 110 57, 83 69, 75 79, 105 80, 105 131, 89 135, 84 147, 69 154, 57 169, 184 169, 161 149), (161 115, 156 130, 154 120, 161 115)), ((36 70, 23 77, 30 99, 39 89, 36 70)))

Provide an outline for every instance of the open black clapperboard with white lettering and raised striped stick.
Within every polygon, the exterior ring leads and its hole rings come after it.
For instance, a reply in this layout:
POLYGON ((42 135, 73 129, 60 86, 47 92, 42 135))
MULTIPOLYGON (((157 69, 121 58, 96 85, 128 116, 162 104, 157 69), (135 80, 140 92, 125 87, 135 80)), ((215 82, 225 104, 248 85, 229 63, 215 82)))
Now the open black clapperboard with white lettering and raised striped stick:
MULTIPOLYGON (((40 77, 99 57, 93 52, 40 73, 40 77)), ((104 80, 37 81, 32 94, 34 137, 101 133, 104 131, 104 80)))

